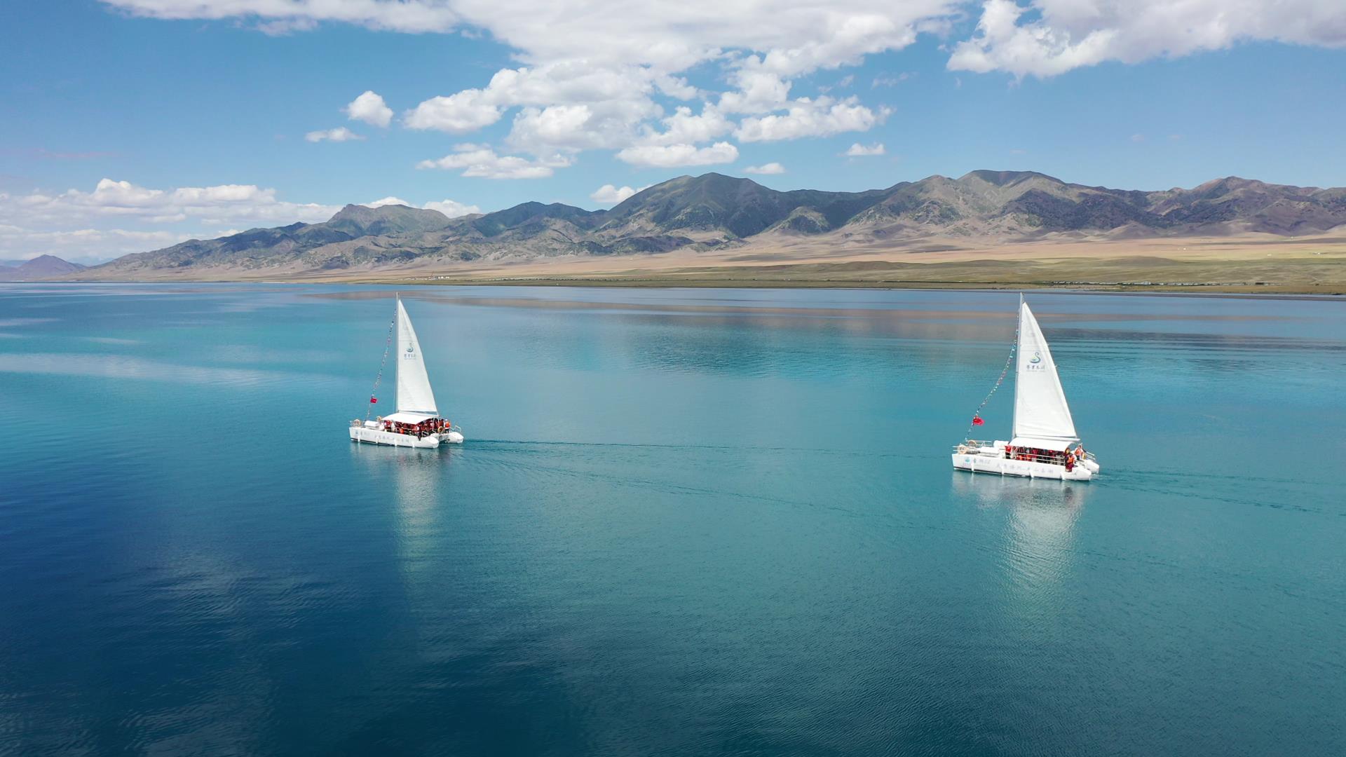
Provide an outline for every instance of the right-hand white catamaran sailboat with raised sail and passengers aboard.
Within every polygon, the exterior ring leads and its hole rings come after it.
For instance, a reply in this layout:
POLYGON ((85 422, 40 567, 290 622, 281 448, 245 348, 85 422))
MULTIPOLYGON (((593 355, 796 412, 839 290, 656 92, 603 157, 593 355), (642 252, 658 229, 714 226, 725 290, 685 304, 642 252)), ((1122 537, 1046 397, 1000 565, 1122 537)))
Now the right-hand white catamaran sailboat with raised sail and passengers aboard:
MULTIPOLYGON (((1012 357, 1012 438, 1008 442, 966 439, 953 451, 953 467, 1000 475, 1089 481, 1098 473, 1098 461, 1079 443, 1057 364, 1023 295, 1019 296, 1019 335, 1012 357)), ((973 426, 981 426, 980 412, 973 416, 973 426)))

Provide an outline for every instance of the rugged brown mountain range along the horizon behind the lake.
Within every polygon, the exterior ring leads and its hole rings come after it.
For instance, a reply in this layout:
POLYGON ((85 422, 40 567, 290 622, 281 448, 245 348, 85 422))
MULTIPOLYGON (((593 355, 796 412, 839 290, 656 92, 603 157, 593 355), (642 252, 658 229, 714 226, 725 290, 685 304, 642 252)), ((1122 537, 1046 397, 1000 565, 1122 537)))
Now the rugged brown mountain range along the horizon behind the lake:
POLYGON ((647 187, 610 210, 525 202, 448 218, 404 205, 347 205, 322 224, 190 240, 79 271, 75 277, 292 275, 424 264, 649 255, 751 246, 760 240, 860 240, 911 248, 931 237, 1141 238, 1302 236, 1346 225, 1346 189, 1229 176, 1194 189, 1114 190, 1031 171, 929 176, 859 193, 777 191, 704 174, 647 187))

